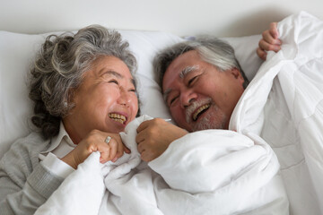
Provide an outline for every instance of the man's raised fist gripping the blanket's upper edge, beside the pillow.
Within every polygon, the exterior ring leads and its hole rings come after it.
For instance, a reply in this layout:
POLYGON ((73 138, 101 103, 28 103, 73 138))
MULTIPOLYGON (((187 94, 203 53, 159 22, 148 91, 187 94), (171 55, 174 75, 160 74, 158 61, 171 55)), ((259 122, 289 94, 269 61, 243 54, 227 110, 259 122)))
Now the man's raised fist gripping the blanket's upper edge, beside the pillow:
POLYGON ((277 22, 271 22, 269 30, 265 30, 262 37, 258 44, 257 54, 261 59, 266 60, 267 51, 278 52, 281 49, 282 41, 278 39, 277 22))

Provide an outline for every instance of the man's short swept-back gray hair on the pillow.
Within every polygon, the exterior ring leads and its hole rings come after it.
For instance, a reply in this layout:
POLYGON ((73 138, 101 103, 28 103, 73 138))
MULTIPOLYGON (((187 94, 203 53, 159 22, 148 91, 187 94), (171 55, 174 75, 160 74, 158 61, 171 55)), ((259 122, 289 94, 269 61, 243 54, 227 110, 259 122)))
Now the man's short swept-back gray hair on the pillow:
POLYGON ((167 47, 162 50, 153 61, 153 67, 155 73, 158 75, 158 81, 162 86, 162 79, 170 66, 171 62, 178 56, 191 51, 196 50, 198 55, 206 63, 213 64, 219 71, 225 71, 232 68, 239 69, 243 79, 243 88, 246 88, 249 84, 249 80, 243 73, 238 60, 234 55, 234 49, 228 43, 221 39, 203 37, 194 40, 184 41, 167 47))

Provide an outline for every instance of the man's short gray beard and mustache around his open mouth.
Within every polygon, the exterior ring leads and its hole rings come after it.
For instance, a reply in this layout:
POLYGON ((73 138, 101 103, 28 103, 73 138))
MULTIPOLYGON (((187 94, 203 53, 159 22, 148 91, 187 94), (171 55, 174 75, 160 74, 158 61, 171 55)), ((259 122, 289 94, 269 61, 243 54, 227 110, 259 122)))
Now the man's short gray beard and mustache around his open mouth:
POLYGON ((195 101, 188 107, 186 111, 186 120, 188 124, 193 125, 193 132, 201 131, 205 129, 224 129, 225 123, 227 121, 227 116, 223 111, 217 107, 211 98, 195 101), (192 113, 197 107, 211 103, 207 113, 204 116, 200 116, 198 122, 194 122, 192 119, 192 113))

